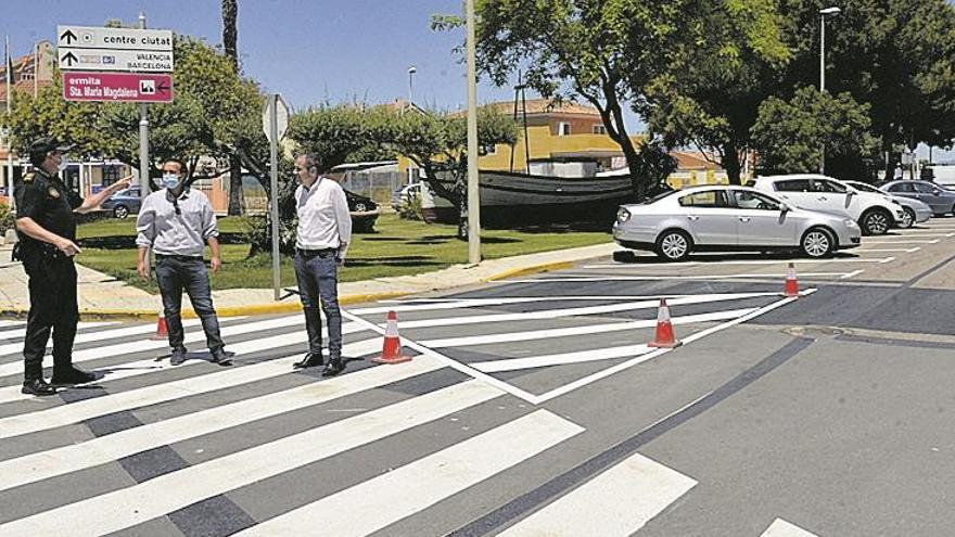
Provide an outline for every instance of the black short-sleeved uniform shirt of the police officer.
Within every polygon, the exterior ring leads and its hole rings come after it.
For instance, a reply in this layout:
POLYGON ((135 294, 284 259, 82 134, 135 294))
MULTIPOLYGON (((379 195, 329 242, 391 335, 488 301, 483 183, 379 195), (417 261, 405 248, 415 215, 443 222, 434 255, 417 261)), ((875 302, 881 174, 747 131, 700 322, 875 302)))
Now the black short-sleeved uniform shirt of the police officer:
MULTIPOLYGON (((41 228, 71 241, 76 241, 76 215, 73 209, 82 205, 82 199, 67 189, 58 176, 42 169, 27 174, 14 189, 16 217, 31 218, 41 228)), ((24 247, 39 246, 36 239, 20 233, 24 247)))

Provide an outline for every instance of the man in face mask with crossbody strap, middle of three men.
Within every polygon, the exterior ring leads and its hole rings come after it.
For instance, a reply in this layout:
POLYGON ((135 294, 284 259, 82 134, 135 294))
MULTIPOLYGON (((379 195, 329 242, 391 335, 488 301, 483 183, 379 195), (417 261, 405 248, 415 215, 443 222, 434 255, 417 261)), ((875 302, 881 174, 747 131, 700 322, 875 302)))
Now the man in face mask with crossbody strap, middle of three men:
POLYGON ((216 215, 208 199, 186 186, 186 165, 178 159, 163 164, 163 189, 153 192, 142 203, 136 219, 136 245, 139 246, 137 269, 149 279, 147 259, 150 248, 156 254, 156 280, 163 296, 163 311, 169 332, 173 354, 169 361, 178 366, 186 361, 187 349, 182 331, 182 290, 189 294, 192 308, 202 321, 212 361, 220 366, 231 363, 219 334, 219 320, 213 307, 208 271, 203 261, 205 243, 212 251, 209 266, 218 272, 219 230, 216 215))

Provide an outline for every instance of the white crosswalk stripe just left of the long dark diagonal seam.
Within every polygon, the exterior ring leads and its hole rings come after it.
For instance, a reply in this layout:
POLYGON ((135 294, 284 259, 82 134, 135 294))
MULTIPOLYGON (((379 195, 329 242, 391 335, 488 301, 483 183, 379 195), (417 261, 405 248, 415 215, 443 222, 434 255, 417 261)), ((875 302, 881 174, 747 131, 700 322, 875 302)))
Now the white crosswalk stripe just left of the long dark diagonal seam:
POLYGON ((360 485, 252 526, 237 536, 307 535, 316 528, 321 528, 323 535, 335 537, 366 536, 474 486, 583 431, 578 425, 547 410, 538 410, 360 485))

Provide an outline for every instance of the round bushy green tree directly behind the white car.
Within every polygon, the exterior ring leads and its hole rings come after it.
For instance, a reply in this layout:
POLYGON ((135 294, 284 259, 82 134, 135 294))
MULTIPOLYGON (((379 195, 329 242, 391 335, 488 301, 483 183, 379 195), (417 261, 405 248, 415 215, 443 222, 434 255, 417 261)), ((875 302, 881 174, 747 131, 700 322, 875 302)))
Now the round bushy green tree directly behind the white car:
POLYGON ((753 144, 768 170, 817 171, 825 146, 831 175, 862 179, 860 167, 852 165, 870 159, 879 145, 868 135, 868 114, 869 105, 855 102, 848 92, 832 95, 801 88, 789 101, 773 97, 760 106, 753 144))

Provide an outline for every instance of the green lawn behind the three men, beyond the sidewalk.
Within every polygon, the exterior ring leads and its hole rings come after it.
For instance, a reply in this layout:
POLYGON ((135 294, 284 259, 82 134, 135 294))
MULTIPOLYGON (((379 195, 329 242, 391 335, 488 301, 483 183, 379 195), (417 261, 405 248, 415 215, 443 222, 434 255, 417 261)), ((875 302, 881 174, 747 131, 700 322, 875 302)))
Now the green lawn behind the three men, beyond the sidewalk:
MULTIPOLYGON (((222 270, 212 277, 213 289, 271 287, 271 256, 249 257, 250 246, 243 242, 249 223, 244 218, 220 218, 222 235, 222 270)), ((425 225, 403 220, 394 214, 379 217, 374 233, 353 235, 346 267, 339 280, 360 281, 374 278, 418 274, 467 263, 468 244, 455 238, 455 227, 425 225)), ((608 231, 610 226, 607 226, 608 231)), ((484 230, 482 256, 496 259, 552 250, 588 246, 607 242, 608 231, 573 231, 568 229, 484 230)), ((78 263, 123 279, 155 293, 155 281, 149 284, 136 273, 136 230, 132 219, 101 220, 79 227, 82 254, 78 263)), ((208 253, 206 253, 208 255, 208 253)), ((282 259, 282 285, 294 285, 292 259, 282 259)))

